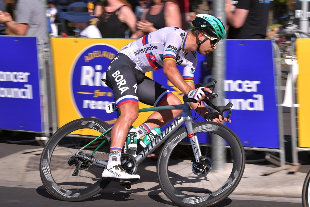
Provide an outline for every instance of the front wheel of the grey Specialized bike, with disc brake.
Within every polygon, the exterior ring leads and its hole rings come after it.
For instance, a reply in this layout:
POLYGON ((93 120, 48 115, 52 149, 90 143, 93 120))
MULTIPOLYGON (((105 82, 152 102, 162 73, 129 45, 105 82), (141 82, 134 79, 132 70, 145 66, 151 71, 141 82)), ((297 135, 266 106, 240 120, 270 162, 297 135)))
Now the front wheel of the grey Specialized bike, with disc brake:
POLYGON ((223 124, 197 122, 193 124, 193 132, 199 141, 200 161, 193 159, 186 129, 181 128, 162 148, 157 178, 162 191, 176 204, 211 206, 229 196, 240 182, 245 167, 244 149, 237 135, 223 124), (223 143, 223 152, 219 153, 219 148, 212 145, 214 139, 223 143), (226 156, 227 159, 217 162, 226 156))

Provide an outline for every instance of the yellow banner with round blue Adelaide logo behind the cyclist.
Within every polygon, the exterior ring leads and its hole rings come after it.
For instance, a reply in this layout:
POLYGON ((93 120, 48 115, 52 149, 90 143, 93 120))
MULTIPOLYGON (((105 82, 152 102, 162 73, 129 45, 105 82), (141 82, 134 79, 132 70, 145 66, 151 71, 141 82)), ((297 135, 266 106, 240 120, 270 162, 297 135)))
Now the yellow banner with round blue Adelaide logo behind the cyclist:
MULTIPOLYGON (((106 106, 114 102, 113 91, 101 79, 117 52, 132 41, 51 38, 58 128, 83 117, 115 123, 116 112, 106 113, 106 106)), ((146 75, 153 78, 152 72, 146 75)), ((139 108, 146 107, 150 106, 139 103, 139 108)), ((151 113, 141 113, 134 126, 143 123, 151 113)))

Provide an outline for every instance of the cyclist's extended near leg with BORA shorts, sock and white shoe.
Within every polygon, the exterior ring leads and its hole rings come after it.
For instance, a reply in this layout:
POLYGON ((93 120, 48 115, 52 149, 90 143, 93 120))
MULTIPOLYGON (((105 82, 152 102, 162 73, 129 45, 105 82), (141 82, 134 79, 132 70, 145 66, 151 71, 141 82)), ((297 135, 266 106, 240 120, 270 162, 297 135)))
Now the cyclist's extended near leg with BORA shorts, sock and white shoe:
POLYGON ((120 110, 111 131, 111 148, 107 167, 102 173, 104 179, 136 181, 139 175, 130 175, 122 170, 121 152, 131 124, 138 118, 137 81, 132 68, 135 64, 124 54, 118 53, 111 61, 106 73, 107 81, 113 87, 114 99, 120 110))

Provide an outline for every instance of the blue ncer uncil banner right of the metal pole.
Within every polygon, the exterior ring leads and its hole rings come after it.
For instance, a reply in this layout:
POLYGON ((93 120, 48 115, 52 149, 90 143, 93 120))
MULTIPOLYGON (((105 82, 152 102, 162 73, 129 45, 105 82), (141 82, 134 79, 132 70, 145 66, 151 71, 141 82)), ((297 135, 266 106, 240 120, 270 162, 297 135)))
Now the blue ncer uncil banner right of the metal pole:
POLYGON ((227 40, 226 46, 225 105, 233 104, 227 126, 243 146, 279 148, 272 41, 227 40))

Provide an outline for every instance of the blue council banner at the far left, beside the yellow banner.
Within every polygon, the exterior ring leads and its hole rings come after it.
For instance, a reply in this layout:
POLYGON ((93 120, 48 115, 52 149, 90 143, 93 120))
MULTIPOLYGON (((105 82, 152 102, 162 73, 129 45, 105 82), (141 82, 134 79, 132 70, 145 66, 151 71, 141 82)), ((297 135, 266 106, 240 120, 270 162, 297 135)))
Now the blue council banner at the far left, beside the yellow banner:
POLYGON ((0 128, 41 132, 37 40, 0 37, 0 128))

